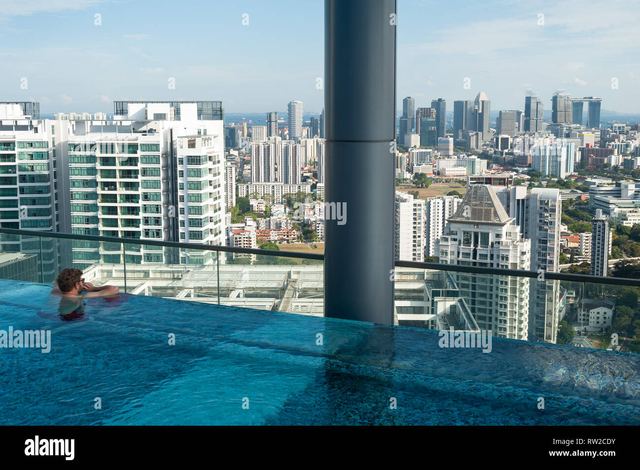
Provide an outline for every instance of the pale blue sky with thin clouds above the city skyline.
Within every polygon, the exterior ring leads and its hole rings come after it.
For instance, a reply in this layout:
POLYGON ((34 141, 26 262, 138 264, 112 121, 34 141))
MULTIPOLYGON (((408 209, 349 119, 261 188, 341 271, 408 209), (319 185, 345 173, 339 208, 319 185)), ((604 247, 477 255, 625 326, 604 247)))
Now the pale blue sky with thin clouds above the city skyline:
MULTIPOLYGON (((416 106, 444 97, 452 111, 485 91, 492 110, 522 109, 532 88, 548 109, 564 88, 637 113, 639 3, 398 0, 398 108, 411 95, 416 106)), ((127 99, 285 111, 297 99, 319 113, 323 10, 322 0, 3 0, 0 100, 40 101, 52 114, 113 113, 113 100, 127 99)))

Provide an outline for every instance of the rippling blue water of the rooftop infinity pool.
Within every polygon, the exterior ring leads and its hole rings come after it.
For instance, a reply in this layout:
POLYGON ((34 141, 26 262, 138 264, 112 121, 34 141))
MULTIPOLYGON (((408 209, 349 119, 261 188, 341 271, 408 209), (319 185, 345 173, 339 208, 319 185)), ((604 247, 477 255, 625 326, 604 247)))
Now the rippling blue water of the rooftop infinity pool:
POLYGON ((137 295, 63 321, 49 289, 0 281, 0 329, 52 343, 0 349, 0 425, 640 424, 632 354, 137 295))

